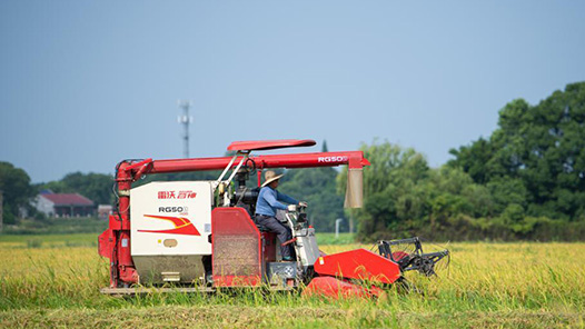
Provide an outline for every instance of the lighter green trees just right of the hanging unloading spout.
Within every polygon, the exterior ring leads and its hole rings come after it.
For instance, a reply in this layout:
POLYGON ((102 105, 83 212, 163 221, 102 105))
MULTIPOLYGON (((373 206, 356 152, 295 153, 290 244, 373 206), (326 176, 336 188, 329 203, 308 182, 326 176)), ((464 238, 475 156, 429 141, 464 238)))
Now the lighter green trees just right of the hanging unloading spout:
MULTIPOLYGON (((351 210, 359 240, 455 235, 462 231, 462 218, 473 225, 474 218, 494 213, 489 190, 462 169, 430 169, 420 153, 389 142, 361 150, 371 166, 364 169, 364 207, 351 210)), ((338 178, 341 189, 346 172, 338 178)))

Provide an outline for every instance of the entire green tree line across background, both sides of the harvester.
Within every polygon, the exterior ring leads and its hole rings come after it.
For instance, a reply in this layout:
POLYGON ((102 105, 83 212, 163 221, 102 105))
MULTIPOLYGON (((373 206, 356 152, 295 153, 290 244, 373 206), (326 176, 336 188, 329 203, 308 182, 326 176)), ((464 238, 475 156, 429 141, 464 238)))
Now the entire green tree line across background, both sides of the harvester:
MULTIPOLYGON (((585 237, 585 82, 566 86, 538 104, 513 100, 487 138, 452 149, 453 159, 430 168, 412 148, 387 141, 363 144, 364 208, 344 210, 347 170, 287 170, 279 189, 309 202, 319 231, 343 218, 357 222, 359 240, 423 236, 435 240, 582 240, 585 237)), ((324 143, 323 150, 327 151, 324 143)), ((153 180, 214 180, 219 172, 149 176, 153 180)), ((256 177, 251 177, 256 180, 256 177)), ((41 189, 78 192, 112 203, 112 177, 69 173, 31 185, 28 175, 0 162, 4 222, 41 189)))

